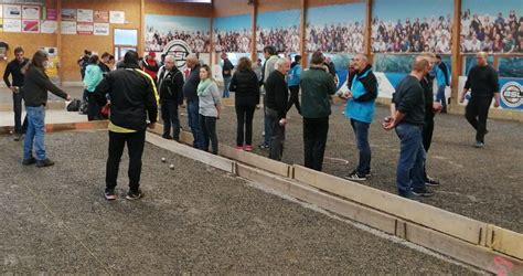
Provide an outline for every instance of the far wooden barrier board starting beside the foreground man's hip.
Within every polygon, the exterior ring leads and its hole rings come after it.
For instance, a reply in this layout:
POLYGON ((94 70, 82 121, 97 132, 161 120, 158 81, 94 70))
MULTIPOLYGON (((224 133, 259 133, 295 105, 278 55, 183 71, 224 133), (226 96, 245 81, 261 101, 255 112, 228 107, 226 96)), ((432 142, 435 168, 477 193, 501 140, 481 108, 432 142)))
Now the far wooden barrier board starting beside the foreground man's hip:
POLYGON ((200 161, 230 173, 235 173, 236 171, 236 163, 232 160, 185 146, 173 140, 166 140, 154 134, 147 132, 146 141, 159 148, 167 149, 180 156, 200 161))

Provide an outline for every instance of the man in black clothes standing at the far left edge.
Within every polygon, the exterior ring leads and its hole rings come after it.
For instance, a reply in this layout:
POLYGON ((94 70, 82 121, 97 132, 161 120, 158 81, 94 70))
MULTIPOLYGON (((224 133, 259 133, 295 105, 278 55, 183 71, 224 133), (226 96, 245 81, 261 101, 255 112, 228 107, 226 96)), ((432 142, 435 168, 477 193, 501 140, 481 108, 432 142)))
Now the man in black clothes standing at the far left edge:
POLYGON ((20 141, 22 135, 28 129, 28 120, 24 118, 22 125, 22 99, 23 99, 23 72, 22 68, 29 63, 29 59, 23 57, 23 49, 14 49, 14 60, 8 63, 3 72, 3 82, 6 86, 13 93, 13 112, 14 112, 14 140, 20 141), (11 75, 12 82, 9 82, 11 75))

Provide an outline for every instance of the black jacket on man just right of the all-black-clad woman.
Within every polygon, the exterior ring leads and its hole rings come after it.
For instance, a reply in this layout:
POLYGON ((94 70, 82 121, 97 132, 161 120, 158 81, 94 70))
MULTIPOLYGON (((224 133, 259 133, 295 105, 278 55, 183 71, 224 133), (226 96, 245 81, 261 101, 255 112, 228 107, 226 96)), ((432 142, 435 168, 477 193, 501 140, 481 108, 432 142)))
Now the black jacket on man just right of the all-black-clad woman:
POLYGON ((286 118, 289 100, 289 88, 285 75, 275 70, 265 82, 265 106, 278 113, 278 118, 286 118))

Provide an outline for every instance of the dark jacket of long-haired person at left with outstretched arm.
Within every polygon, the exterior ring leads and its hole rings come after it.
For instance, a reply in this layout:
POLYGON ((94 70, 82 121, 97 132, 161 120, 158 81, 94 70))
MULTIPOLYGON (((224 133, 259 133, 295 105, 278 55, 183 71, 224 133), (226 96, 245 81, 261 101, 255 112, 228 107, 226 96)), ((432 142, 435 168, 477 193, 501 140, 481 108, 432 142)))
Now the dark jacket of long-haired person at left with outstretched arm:
POLYGON ((25 72, 23 87, 23 100, 25 106, 35 107, 46 105, 47 92, 62 98, 67 97, 67 93, 51 83, 43 68, 30 65, 28 72, 25 72))

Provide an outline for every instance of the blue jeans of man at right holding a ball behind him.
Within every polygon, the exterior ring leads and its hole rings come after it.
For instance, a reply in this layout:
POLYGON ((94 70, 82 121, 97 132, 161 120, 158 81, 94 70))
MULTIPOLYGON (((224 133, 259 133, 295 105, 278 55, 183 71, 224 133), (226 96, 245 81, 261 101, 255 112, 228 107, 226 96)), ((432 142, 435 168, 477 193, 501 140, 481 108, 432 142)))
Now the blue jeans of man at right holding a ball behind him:
POLYGON ((396 182, 399 195, 409 198, 412 189, 425 188, 423 148, 423 128, 410 124, 399 124, 396 127, 401 140, 399 160, 397 162, 396 182))

